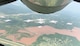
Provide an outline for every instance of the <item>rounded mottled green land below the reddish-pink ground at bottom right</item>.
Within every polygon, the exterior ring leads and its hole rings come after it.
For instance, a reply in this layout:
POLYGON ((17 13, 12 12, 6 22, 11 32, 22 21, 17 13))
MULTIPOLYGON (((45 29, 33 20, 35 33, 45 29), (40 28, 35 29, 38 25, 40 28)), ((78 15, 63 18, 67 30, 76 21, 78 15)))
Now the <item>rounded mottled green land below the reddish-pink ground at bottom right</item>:
POLYGON ((36 42, 31 46, 80 46, 80 41, 75 37, 61 35, 61 34, 49 34, 40 36, 36 42))

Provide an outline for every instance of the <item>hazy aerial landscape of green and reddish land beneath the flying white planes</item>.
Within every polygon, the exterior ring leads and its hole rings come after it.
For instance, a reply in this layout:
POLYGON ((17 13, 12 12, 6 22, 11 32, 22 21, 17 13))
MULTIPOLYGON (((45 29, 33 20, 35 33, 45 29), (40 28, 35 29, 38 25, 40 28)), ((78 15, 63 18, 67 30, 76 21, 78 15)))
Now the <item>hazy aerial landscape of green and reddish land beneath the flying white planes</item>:
MULTIPOLYGON (((0 7, 1 44, 5 46, 80 46, 80 13, 76 16, 75 11, 73 11, 74 14, 67 14, 64 11, 39 14, 27 9, 20 1, 0 7)), ((68 11, 65 10, 65 12, 68 11)))

